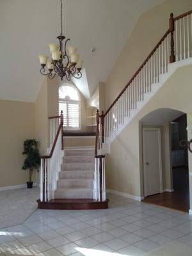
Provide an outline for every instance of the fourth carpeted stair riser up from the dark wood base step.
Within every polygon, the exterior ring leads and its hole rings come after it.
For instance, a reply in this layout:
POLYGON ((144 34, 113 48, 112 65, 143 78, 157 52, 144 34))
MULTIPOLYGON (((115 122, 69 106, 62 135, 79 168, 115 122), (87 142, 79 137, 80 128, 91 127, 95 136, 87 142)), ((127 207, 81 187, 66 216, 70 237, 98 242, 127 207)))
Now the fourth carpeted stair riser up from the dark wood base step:
POLYGON ((61 170, 66 171, 93 171, 95 164, 93 163, 65 163, 61 164, 61 170))

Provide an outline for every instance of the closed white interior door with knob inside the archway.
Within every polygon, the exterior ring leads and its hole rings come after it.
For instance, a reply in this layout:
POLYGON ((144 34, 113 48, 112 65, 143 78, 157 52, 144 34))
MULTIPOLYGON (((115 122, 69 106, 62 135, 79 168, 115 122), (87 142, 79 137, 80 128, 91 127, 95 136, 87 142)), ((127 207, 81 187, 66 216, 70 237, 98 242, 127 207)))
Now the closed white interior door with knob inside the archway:
POLYGON ((161 130, 143 128, 144 195, 162 193, 161 130))

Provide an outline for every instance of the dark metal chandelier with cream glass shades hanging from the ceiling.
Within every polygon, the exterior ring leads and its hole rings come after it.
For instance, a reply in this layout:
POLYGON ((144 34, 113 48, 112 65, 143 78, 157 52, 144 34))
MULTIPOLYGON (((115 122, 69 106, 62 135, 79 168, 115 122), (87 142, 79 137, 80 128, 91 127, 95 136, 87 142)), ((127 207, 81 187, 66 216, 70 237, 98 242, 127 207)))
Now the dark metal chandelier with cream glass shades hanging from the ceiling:
POLYGON ((77 54, 77 48, 74 46, 68 46, 68 54, 66 51, 67 42, 70 40, 65 39, 63 35, 63 12, 62 12, 62 0, 61 3, 61 34, 58 36, 59 45, 58 44, 49 44, 49 49, 51 52, 51 60, 49 57, 40 54, 39 60, 40 65, 40 73, 44 76, 48 76, 49 79, 53 79, 56 74, 61 77, 66 77, 68 81, 70 81, 71 77, 75 77, 77 79, 82 77, 81 67, 83 61, 79 58, 79 54, 77 54), (47 65, 47 71, 45 66, 47 65))

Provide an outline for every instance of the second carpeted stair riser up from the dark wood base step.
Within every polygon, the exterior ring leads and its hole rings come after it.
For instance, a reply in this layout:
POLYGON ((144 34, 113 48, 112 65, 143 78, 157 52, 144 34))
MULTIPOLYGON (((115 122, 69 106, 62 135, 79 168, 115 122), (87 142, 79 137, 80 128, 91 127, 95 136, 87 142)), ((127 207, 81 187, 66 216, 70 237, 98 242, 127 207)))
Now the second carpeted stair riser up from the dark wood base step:
POLYGON ((65 188, 65 189, 72 189, 72 188, 90 188, 93 189, 93 180, 58 180, 58 189, 65 188))

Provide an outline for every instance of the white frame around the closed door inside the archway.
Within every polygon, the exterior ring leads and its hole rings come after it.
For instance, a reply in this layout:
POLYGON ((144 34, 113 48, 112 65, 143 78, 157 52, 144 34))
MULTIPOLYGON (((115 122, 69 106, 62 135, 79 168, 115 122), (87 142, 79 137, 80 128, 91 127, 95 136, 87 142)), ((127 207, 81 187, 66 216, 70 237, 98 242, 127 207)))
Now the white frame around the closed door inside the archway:
POLYGON ((144 197, 146 197, 145 193, 145 184, 147 184, 146 180, 146 170, 145 170, 145 131, 157 131, 158 132, 158 144, 159 144, 159 187, 160 187, 160 193, 163 193, 163 171, 162 171, 162 152, 161 152, 161 128, 160 127, 143 127, 143 193, 144 197))

